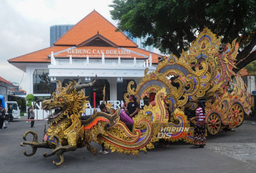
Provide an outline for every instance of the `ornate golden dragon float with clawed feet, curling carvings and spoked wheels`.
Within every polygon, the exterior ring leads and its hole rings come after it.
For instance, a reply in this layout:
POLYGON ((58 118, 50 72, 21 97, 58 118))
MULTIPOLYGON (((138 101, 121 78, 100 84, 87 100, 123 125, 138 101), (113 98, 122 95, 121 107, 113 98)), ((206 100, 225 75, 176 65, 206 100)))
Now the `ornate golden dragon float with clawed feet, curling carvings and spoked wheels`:
POLYGON ((81 120, 88 102, 82 89, 91 87, 93 82, 80 84, 73 80, 62 87, 57 81, 59 85, 52 98, 42 101, 42 109, 50 111, 47 117, 50 126, 45 130, 44 140, 38 142, 37 134, 27 131, 24 140, 28 134, 34 138, 32 142, 20 144, 32 147, 32 153, 24 150, 24 155, 34 155, 37 148, 52 148, 44 157, 57 155, 59 161, 53 163, 59 166, 63 163, 63 154, 77 148, 87 147, 96 155, 93 141, 104 143, 112 152, 127 155, 154 148, 154 143, 163 138, 162 132, 166 141, 193 143, 194 127, 190 126, 187 110, 195 110, 198 99, 206 101, 208 134, 216 135, 221 128, 238 127, 251 112, 251 99, 242 78, 232 71, 236 68, 233 61, 237 52, 236 40, 232 46, 221 44, 220 37, 205 28, 188 52, 183 51, 179 58, 163 57, 154 72, 148 74, 146 69, 136 89, 131 89, 133 82, 129 83, 124 99, 128 102, 129 95, 135 95, 137 100, 153 96, 155 104, 145 105, 139 111, 133 118, 132 130, 120 121, 119 110, 111 108, 111 114, 95 111, 88 120, 81 120), (174 81, 170 80, 172 77, 174 81), (169 104, 171 115, 165 110, 165 103, 169 104))

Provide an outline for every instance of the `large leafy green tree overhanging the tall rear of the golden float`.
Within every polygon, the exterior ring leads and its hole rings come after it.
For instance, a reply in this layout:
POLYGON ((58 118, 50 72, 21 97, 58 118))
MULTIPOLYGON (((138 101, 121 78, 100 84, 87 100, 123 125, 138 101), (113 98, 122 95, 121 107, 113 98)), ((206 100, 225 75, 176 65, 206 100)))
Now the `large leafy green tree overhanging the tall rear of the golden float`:
POLYGON ((256 51, 250 54, 256 45, 255 0, 114 0, 110 7, 112 18, 118 20, 117 30, 127 31, 128 37, 148 35, 146 45, 161 53, 179 57, 208 27, 222 36, 223 43, 238 38, 238 70, 256 58, 256 51))

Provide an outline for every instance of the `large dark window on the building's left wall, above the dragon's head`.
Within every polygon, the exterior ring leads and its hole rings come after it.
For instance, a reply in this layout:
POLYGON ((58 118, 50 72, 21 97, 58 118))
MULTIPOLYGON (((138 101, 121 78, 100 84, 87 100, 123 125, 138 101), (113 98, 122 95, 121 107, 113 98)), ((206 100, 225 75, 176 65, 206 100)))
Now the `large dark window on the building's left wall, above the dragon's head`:
POLYGON ((51 80, 49 70, 35 70, 33 74, 33 94, 49 94, 51 80))

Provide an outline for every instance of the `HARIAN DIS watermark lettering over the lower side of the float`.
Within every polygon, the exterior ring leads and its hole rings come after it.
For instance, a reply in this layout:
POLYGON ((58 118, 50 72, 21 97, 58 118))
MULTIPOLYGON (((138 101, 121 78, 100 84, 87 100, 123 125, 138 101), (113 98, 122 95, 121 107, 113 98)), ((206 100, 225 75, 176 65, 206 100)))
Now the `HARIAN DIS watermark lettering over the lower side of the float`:
POLYGON ((157 138, 171 138, 173 134, 179 132, 188 132, 189 127, 162 127, 161 131, 158 133, 157 138))

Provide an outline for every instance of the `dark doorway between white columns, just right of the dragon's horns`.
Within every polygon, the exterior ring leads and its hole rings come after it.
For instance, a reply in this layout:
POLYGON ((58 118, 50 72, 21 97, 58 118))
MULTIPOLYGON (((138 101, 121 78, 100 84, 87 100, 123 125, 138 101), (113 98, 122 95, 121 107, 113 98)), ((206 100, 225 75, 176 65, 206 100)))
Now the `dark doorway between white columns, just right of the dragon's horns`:
POLYGON ((103 89, 105 85, 105 101, 110 100, 110 83, 106 79, 97 79, 91 89, 91 105, 94 104, 93 93, 96 93, 96 106, 103 100, 103 89))

